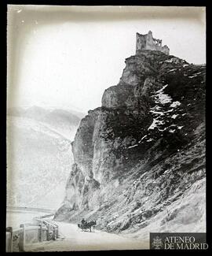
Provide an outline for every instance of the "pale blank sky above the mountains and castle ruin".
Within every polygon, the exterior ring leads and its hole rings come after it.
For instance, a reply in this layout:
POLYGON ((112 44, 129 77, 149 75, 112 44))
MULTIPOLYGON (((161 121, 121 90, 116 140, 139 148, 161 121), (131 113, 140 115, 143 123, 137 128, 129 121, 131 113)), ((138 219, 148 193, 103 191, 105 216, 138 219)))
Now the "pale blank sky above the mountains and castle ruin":
POLYGON ((204 7, 8 6, 8 106, 101 106, 149 30, 170 54, 206 63, 204 7))

